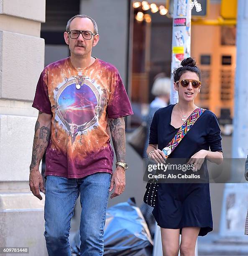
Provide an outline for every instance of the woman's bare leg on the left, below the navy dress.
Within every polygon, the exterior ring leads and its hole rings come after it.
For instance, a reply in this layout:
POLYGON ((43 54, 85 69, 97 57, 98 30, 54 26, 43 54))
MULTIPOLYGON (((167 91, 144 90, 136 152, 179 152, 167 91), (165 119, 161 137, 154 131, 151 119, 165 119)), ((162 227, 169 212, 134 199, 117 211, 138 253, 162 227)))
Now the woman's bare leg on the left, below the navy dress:
POLYGON ((163 256, 178 256, 180 229, 161 228, 163 256))

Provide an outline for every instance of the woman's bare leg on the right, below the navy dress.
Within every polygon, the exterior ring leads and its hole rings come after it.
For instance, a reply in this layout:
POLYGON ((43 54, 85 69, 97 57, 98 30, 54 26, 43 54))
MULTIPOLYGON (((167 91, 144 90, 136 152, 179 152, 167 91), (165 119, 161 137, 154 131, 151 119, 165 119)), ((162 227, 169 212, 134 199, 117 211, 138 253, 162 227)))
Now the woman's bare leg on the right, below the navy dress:
POLYGON ((182 228, 182 237, 180 243, 181 256, 194 256, 195 244, 199 234, 200 228, 185 227, 182 228))

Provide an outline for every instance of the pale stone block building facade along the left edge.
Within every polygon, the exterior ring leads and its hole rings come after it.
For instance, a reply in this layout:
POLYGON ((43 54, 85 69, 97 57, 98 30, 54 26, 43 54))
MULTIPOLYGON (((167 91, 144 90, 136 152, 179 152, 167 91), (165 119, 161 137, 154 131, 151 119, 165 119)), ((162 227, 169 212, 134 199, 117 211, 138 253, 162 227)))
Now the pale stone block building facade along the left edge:
POLYGON ((29 255, 47 255, 44 200, 28 187, 45 13, 45 0, 0 0, 0 247, 29 247, 29 255))

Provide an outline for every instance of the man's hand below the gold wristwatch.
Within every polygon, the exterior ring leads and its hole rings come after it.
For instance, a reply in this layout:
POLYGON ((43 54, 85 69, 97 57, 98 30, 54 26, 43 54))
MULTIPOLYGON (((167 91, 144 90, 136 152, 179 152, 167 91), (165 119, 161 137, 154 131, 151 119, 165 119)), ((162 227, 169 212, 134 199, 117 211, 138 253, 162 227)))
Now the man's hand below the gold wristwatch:
POLYGON ((125 170, 121 166, 117 166, 111 178, 109 191, 112 191, 115 187, 114 192, 110 196, 111 199, 123 193, 126 185, 125 180, 125 170))

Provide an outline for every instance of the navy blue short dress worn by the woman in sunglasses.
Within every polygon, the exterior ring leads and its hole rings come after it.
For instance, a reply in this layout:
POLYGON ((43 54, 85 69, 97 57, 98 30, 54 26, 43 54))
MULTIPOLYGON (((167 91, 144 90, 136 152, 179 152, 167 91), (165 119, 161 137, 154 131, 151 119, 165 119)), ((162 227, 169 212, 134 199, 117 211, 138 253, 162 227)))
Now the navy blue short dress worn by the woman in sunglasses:
MULTIPOLYGON (((171 125, 174 105, 161 108, 154 114, 149 144, 162 150, 179 128, 171 125)), ((205 110, 171 153, 169 158, 189 159, 201 149, 222 151, 220 127, 214 113, 205 110)), ((206 161, 202 168, 207 172, 206 161)), ((197 173, 197 172, 195 172, 197 173)), ((153 215, 161 228, 200 227, 199 236, 213 230, 209 183, 160 183, 153 215)))

